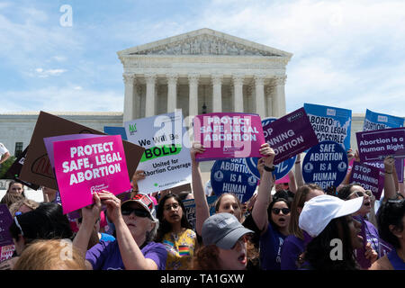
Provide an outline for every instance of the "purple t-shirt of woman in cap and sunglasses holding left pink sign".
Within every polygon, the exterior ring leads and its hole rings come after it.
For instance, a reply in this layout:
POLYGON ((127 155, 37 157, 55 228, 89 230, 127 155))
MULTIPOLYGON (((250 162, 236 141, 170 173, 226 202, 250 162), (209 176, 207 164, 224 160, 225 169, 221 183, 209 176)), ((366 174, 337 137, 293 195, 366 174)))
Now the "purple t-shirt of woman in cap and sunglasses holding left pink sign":
MULTIPOLYGON (((145 258, 155 261, 158 270, 166 269, 167 252, 163 244, 149 242, 140 251, 145 258)), ((85 259, 92 264, 94 270, 125 270, 116 240, 94 245, 85 254, 85 259)))

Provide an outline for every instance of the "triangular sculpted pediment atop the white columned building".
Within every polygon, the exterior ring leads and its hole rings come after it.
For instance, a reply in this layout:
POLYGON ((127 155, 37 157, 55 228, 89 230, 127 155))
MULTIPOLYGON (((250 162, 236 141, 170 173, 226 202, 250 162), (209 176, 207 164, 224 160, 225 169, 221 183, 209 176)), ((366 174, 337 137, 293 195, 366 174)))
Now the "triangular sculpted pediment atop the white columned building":
POLYGON ((282 58, 291 58, 293 56, 293 54, 283 50, 207 28, 121 50, 118 55, 120 57, 129 55, 217 55, 282 58))

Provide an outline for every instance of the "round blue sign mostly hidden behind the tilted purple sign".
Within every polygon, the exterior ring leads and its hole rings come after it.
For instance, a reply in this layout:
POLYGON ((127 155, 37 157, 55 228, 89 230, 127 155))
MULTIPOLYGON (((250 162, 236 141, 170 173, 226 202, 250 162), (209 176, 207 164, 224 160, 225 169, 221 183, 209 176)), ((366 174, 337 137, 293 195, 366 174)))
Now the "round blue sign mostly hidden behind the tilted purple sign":
MULTIPOLYGON (((276 120, 277 120, 277 118, 275 118, 275 117, 268 117, 268 118, 262 119, 262 126, 265 127, 267 124, 270 124, 271 122, 274 122, 276 120)), ((291 158, 283 161, 282 163, 275 165, 275 172, 273 173, 273 175, 275 175, 276 180, 283 178, 285 175, 288 174, 288 172, 290 172, 290 170, 294 166, 296 158, 297 158, 297 156, 294 156, 294 157, 291 157, 291 158)), ((246 163, 247 168, 249 169, 250 173, 252 175, 256 176, 258 180, 260 180, 260 173, 257 170, 258 159, 259 159, 258 157, 248 157, 248 158, 245 158, 245 163, 246 163)))

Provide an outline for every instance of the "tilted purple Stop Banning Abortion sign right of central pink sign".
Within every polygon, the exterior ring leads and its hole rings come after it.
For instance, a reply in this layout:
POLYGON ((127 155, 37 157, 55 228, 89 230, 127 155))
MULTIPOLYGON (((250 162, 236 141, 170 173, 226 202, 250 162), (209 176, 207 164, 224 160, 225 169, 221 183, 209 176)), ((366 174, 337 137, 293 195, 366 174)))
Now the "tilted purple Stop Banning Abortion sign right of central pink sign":
POLYGON ((263 132, 266 142, 275 150, 275 165, 319 143, 303 108, 267 124, 263 132))

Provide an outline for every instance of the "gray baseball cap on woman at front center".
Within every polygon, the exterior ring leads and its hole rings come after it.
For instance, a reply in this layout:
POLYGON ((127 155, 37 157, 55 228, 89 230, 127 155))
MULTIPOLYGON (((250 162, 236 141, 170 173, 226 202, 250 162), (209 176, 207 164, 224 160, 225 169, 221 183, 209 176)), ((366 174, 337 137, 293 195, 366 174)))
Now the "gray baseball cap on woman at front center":
POLYGON ((217 213, 202 224, 202 243, 229 250, 247 233, 253 231, 243 227, 235 216, 225 212, 217 213))

